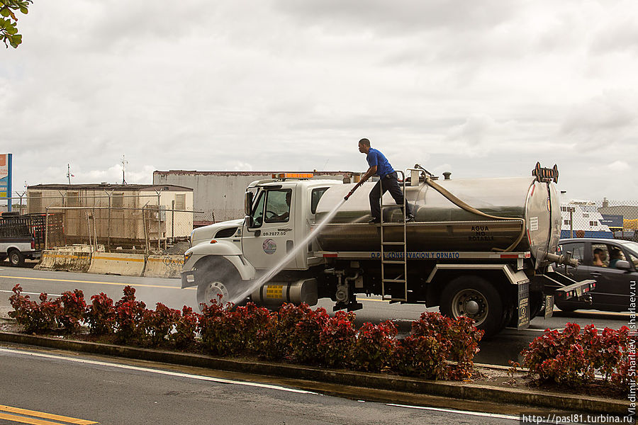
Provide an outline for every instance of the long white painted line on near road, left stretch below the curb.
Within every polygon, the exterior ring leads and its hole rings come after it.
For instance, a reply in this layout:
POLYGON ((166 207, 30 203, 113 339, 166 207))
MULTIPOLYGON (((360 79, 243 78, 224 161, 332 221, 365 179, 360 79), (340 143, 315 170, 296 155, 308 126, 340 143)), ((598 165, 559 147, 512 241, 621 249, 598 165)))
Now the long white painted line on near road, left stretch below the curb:
POLYGON ((87 360, 87 359, 83 359, 83 358, 69 358, 69 357, 64 357, 64 356, 54 356, 52 354, 33 353, 31 351, 13 350, 11 348, 0 348, 0 352, 21 354, 23 356, 53 358, 55 360, 72 361, 72 362, 75 362, 75 363, 84 363, 84 364, 89 364, 89 365, 108 366, 108 367, 111 367, 111 368, 138 370, 140 372, 157 373, 159 375, 168 375, 168 376, 177 376, 179 378, 190 378, 190 379, 196 379, 196 380, 205 380, 205 381, 211 381, 211 382, 218 382, 220 384, 245 385, 247 387, 268 388, 269 390, 296 392, 298 394, 314 394, 314 395, 317 394, 316 392, 312 392, 312 391, 296 390, 295 388, 280 387, 279 385, 269 385, 269 384, 260 384, 258 382, 244 382, 244 381, 228 380, 228 379, 222 379, 222 378, 213 378, 211 376, 191 375, 190 373, 170 372, 168 370, 159 370, 159 369, 151 369, 151 368, 140 368, 139 366, 120 365, 120 364, 117 364, 117 363, 107 363, 107 362, 103 362, 103 361, 87 360))

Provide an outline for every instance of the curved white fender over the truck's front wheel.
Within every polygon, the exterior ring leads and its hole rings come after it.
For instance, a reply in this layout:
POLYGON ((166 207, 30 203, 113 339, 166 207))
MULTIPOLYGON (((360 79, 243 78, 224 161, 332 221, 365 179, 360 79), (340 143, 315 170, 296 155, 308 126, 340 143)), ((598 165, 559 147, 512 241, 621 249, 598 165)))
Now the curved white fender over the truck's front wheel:
MULTIPOLYGON (((206 257, 222 257, 230 261, 230 263, 237 268, 237 272, 240 273, 242 280, 251 280, 254 278, 255 271, 254 266, 248 262, 242 253, 239 246, 230 241, 218 240, 214 244, 198 244, 189 248, 184 253, 184 272, 183 275, 191 274, 194 270, 195 264, 206 257)), ((184 277, 182 276, 182 288, 184 286, 184 277)), ((192 285, 196 283, 190 282, 192 285)))

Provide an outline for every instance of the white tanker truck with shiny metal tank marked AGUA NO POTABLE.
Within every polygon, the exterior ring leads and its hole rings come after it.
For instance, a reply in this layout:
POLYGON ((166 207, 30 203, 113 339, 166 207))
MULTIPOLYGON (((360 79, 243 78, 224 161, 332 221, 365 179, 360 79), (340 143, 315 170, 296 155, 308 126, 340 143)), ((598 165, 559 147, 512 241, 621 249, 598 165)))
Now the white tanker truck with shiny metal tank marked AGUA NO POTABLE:
POLYGON ((199 303, 221 297, 276 308, 330 298, 334 310, 349 311, 362 308, 357 295, 380 295, 471 317, 486 336, 549 317, 554 298, 591 299, 595 280, 552 268, 578 265, 556 254, 556 166, 511 179, 440 180, 420 166, 400 174, 410 222, 386 193, 381 223, 369 224, 374 182, 354 192, 354 183, 306 174, 250 183, 244 219, 192 232, 182 288, 196 286, 199 303))

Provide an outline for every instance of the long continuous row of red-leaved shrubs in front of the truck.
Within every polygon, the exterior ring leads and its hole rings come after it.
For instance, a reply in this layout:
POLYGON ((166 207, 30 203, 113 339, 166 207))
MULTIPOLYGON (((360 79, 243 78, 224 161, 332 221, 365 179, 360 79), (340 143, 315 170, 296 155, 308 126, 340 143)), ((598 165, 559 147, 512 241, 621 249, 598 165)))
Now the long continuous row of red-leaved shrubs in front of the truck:
POLYGON ((127 286, 123 292, 117 302, 100 293, 87 305, 81 290, 57 299, 43 293, 35 302, 16 285, 9 298, 13 307, 9 316, 35 334, 77 335, 84 323, 94 338, 120 344, 449 380, 471 378, 483 336, 471 319, 452 320, 432 312, 413 322, 410 336, 396 339, 391 321, 365 323, 357 329, 352 312, 330 316, 323 308, 312 310, 305 304, 285 304, 271 312, 252 303, 235 307, 216 300, 203 306, 201 314, 159 302, 149 310, 135 298, 134 288, 127 286))

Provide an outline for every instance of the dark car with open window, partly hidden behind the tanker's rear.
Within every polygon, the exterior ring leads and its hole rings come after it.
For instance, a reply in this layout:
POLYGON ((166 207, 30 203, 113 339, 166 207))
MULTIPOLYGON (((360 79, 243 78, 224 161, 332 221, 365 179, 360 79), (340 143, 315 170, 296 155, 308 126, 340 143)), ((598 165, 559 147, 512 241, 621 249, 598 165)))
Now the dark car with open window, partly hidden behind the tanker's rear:
POLYGON ((559 309, 605 310, 626 312, 629 310, 630 293, 638 289, 638 243, 622 239, 576 238, 561 239, 561 254, 571 252, 581 265, 555 266, 556 271, 574 280, 595 279, 596 288, 591 292, 592 303, 567 300, 556 302, 559 309))

